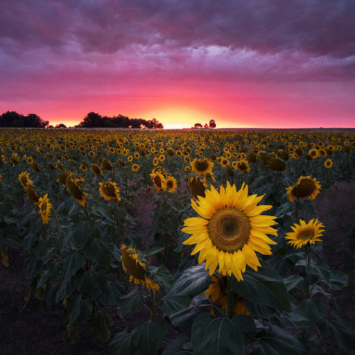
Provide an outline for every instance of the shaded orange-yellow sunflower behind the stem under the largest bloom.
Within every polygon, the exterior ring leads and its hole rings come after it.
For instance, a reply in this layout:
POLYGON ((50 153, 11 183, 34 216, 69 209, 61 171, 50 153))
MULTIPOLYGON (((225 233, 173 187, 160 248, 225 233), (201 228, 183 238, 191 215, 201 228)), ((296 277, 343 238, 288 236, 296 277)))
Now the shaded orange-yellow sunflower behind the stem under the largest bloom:
MULTIPOLYGON (((222 280, 225 279, 225 277, 223 277, 222 275, 220 275, 220 278, 222 280)), ((221 308, 227 311, 227 295, 224 293, 220 279, 218 279, 214 275, 211 275, 211 279, 214 283, 209 285, 209 287, 205 291, 205 296, 209 297, 212 303, 220 304, 221 308)), ((236 297, 236 300, 234 300, 234 314, 250 315, 248 309, 246 309, 244 306, 243 298, 238 296, 236 297)))

